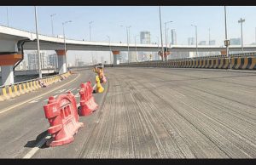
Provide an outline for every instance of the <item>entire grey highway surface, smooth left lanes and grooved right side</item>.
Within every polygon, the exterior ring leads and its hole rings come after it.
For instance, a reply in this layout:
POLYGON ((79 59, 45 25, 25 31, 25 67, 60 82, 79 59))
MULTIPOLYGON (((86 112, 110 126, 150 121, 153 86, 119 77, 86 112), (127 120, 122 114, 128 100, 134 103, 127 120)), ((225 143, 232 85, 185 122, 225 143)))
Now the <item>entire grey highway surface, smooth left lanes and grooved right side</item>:
MULTIPOLYGON (((91 70, 78 73, 55 91, 94 78, 91 70)), ((120 67, 105 74, 105 91, 95 94, 100 109, 79 118, 84 128, 69 145, 36 147, 49 127, 44 100, 54 92, 38 91, 41 99, 3 113, 1 105, 0 156, 256 158, 256 71, 120 67)))

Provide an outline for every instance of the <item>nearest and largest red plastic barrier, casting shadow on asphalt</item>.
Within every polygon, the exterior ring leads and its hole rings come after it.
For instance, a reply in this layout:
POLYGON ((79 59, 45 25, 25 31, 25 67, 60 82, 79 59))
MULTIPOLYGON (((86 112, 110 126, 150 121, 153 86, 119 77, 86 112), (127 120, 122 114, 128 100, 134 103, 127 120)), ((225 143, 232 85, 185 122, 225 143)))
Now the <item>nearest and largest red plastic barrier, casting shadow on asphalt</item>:
POLYGON ((76 100, 71 92, 59 95, 56 100, 49 97, 48 105, 44 105, 44 114, 49 120, 48 133, 52 136, 46 142, 48 146, 71 143, 73 135, 84 126, 83 122, 79 122, 76 100))

